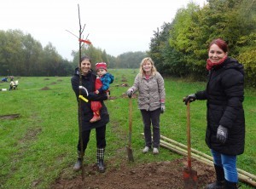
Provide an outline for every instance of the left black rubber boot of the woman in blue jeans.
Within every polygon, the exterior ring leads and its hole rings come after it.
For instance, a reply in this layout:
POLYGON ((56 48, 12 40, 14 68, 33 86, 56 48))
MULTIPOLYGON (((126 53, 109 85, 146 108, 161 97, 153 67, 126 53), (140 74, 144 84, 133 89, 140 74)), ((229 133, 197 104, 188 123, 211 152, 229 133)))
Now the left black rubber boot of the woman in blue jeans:
POLYGON ((224 169, 216 164, 214 164, 214 169, 217 180, 207 185, 205 189, 224 189, 224 169))

